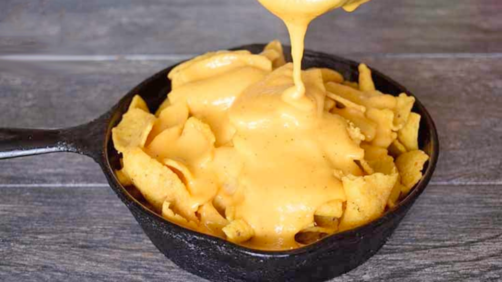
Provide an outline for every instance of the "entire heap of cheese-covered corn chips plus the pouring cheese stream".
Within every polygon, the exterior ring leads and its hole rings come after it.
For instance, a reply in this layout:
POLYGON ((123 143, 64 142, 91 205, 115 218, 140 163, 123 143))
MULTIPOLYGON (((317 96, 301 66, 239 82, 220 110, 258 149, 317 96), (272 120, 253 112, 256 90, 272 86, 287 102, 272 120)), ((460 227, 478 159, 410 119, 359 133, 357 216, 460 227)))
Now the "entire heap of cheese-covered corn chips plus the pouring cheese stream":
POLYGON ((218 51, 178 65, 156 115, 138 96, 113 128, 123 155, 117 176, 177 224, 252 248, 292 249, 382 215, 414 185, 416 177, 403 185, 400 174, 426 158, 400 143, 416 140, 398 138, 402 128, 418 130, 417 118, 408 124, 413 97, 376 91, 364 65, 359 84, 301 69, 309 23, 368 0, 259 1, 286 24, 294 64, 275 41, 262 54, 218 51))

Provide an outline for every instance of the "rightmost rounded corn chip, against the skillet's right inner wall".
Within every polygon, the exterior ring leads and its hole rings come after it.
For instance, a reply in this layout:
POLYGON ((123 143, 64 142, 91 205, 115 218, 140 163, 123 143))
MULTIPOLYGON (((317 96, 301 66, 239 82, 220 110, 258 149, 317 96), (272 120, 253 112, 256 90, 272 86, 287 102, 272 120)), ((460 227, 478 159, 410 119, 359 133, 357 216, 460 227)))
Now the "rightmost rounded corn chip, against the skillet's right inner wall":
POLYGON ((422 169, 429 156, 423 151, 415 150, 399 156, 396 160, 396 167, 401 174, 401 183, 403 184, 403 194, 408 194, 410 190, 422 178, 422 169))

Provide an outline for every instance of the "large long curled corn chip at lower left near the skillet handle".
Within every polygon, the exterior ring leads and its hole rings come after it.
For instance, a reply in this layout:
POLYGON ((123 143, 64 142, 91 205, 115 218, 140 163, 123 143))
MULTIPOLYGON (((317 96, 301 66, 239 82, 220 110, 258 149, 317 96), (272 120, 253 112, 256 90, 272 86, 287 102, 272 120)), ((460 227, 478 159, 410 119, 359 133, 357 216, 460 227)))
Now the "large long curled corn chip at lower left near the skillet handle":
POLYGON ((185 185, 169 168, 138 147, 124 152, 123 162, 124 171, 132 183, 157 211, 161 211, 164 201, 167 201, 176 214, 197 221, 197 206, 194 207, 185 185))

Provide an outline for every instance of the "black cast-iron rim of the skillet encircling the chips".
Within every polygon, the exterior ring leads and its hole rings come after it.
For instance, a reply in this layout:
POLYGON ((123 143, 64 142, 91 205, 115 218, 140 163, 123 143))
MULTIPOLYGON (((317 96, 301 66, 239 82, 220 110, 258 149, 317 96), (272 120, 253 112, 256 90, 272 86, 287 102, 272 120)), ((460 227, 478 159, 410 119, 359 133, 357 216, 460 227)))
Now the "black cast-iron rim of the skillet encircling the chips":
MULTIPOLYGON (((264 48, 266 44, 248 44, 248 45, 243 45, 239 47, 234 47, 229 50, 252 50, 252 49, 257 49, 257 48, 264 48)), ((284 45, 284 48, 287 49, 289 46, 284 45)), ((316 51, 311 51, 311 50, 305 50, 304 53, 304 58, 308 57, 314 57, 316 59, 319 58, 325 58, 328 60, 336 61, 338 63, 342 63, 345 65, 348 65, 352 68, 357 69, 357 66, 359 63, 356 61, 346 59, 340 56, 336 55, 330 55, 327 53, 323 52, 316 52, 316 51)), ((186 60, 185 60, 186 61, 186 60)), ((103 172, 107 175, 108 182, 110 182, 111 188, 114 190, 114 192, 119 196, 119 198, 126 204, 126 206, 129 209, 134 208, 135 210, 143 213, 144 215, 148 216, 149 218, 160 221, 159 223, 167 225, 170 230, 168 232, 183 232, 189 236, 195 236, 199 237, 201 239, 204 239, 205 241, 212 241, 214 244, 220 244, 223 245, 227 249, 231 249, 231 251, 236 251, 239 253, 247 254, 247 255, 252 255, 252 256, 257 256, 257 257, 271 257, 271 258, 280 258, 280 257, 288 257, 291 255, 299 255, 299 254, 307 254, 307 253, 314 253, 317 251, 325 251, 326 247, 329 247, 330 245, 335 245, 335 242, 337 241, 343 241, 351 238, 359 238, 361 237, 361 234, 365 234, 368 231, 371 231, 377 226, 383 225, 386 222, 392 221, 396 216, 398 216, 401 213, 407 213, 407 210, 414 204, 414 202, 418 199, 418 197, 423 193, 427 185, 429 184, 430 179, 432 178, 432 175, 435 171, 437 160, 439 157, 439 139, 437 135, 437 129, 434 124, 434 121, 430 115, 430 113, 427 111, 425 106, 420 102, 420 100, 408 89, 406 89, 403 85, 400 83, 396 82, 392 78, 388 77, 387 75, 383 74, 382 72, 370 68, 372 71, 373 76, 379 76, 382 79, 386 80, 387 83, 392 84, 395 86, 397 89, 400 90, 401 93, 406 93, 408 95, 412 95, 415 97, 415 105, 414 108, 418 108, 421 111, 421 116, 424 118, 424 123, 427 125, 427 131, 429 133, 429 138, 430 138, 430 145, 431 146, 431 155, 429 156, 429 161, 427 165, 427 169, 425 170, 425 173, 423 174, 421 180, 413 187, 411 192, 399 202, 399 204, 394 207, 393 209, 387 210, 381 217, 376 218, 362 226, 356 227, 354 229, 349 229, 340 233, 334 233, 331 235, 328 235, 324 238, 322 238, 319 241, 316 241, 314 243, 291 249, 291 250, 263 250, 263 249, 254 249, 254 248, 249 248, 246 246, 238 245, 235 243, 232 243, 230 241, 227 241, 225 239, 215 237, 212 235, 200 233, 185 227, 182 227, 180 225, 177 225, 175 223, 172 223, 168 221, 167 219, 163 218, 159 214, 155 213, 148 207, 146 207, 144 204, 142 204, 139 200, 137 200, 135 197, 133 197, 125 187, 123 187, 120 182, 118 181, 115 173, 113 172, 113 168, 110 164, 110 158, 108 152, 108 146, 111 144, 111 128, 118 123, 120 120, 120 117, 123 113, 120 111, 127 108, 129 106, 130 100, 135 94, 141 93, 141 89, 145 87, 145 85, 151 83, 152 81, 155 81, 161 77, 165 77, 166 81, 167 80, 167 73, 173 69, 175 66, 181 64, 183 61, 176 63, 174 65, 171 65, 156 74, 150 76, 149 78, 145 79, 142 81, 140 84, 138 84, 136 87, 131 89, 126 95, 124 95, 115 106, 113 106, 109 111, 106 116, 108 117, 106 122, 106 132, 105 132, 105 138, 104 138, 104 143, 102 144, 102 154, 101 154, 101 160, 100 160, 100 165, 103 170, 103 172), (126 105, 127 104, 127 105, 126 105), (117 117, 118 115, 118 117, 117 117)), ((167 94, 166 94, 167 96, 167 94)), ((423 149, 423 148, 422 148, 423 149)))

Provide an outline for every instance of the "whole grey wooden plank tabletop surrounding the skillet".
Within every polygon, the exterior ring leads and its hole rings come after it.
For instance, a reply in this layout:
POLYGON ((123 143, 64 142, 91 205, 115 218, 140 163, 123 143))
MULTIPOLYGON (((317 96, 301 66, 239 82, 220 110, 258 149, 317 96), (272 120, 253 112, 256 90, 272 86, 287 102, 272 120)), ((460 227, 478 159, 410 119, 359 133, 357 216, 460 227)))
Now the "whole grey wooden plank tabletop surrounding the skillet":
MULTIPOLYGON (((441 143, 388 243, 332 281, 502 279, 501 13, 500 0, 375 0, 312 25, 307 48, 406 85, 441 143)), ((288 43, 255 0, 2 0, 0 127, 77 125, 168 65, 274 38, 288 43)), ((0 281, 117 280, 203 281, 157 251, 92 160, 0 161, 0 281)))

